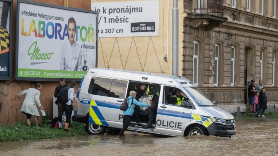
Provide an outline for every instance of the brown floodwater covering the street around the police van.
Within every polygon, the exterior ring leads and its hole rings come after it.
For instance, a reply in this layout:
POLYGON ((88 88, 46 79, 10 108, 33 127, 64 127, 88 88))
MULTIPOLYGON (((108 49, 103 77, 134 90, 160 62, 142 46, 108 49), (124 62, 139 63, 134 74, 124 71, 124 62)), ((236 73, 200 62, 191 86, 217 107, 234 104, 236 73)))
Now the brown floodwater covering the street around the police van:
POLYGON ((60 139, 1 142, 1 156, 272 156, 278 155, 278 119, 236 121, 235 138, 214 136, 154 137, 125 132, 60 139))

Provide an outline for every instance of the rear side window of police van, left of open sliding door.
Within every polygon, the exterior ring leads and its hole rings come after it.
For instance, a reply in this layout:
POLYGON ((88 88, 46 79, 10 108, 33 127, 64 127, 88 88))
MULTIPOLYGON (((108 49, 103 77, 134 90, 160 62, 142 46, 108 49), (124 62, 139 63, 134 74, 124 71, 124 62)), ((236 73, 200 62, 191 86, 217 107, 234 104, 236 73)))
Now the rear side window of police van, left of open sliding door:
POLYGON ((125 98, 127 81, 109 78, 96 78, 93 85, 93 95, 125 98))

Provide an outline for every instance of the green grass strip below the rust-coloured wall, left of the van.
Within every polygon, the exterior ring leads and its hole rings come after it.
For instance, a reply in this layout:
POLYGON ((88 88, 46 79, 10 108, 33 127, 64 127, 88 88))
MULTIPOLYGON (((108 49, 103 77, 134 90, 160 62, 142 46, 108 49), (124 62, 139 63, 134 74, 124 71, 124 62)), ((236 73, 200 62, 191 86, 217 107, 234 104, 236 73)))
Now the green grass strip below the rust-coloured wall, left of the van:
POLYGON ((86 125, 75 121, 71 122, 68 132, 64 132, 64 127, 62 129, 50 128, 47 125, 47 122, 50 121, 48 116, 49 114, 43 116, 42 121, 39 122, 40 127, 36 127, 33 121, 31 122, 31 127, 27 125, 26 121, 20 121, 9 126, 0 125, 0 142, 50 139, 88 134, 85 130, 86 125))

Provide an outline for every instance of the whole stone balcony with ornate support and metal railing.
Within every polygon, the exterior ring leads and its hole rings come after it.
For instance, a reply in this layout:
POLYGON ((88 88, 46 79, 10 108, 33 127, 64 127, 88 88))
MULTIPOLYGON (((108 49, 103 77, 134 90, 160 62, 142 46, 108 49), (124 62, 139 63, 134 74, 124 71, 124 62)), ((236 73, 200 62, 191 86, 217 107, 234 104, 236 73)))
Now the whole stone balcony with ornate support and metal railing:
MULTIPOLYGON (((187 12, 185 23, 195 28, 205 27, 213 30, 219 27, 223 22, 227 22, 228 18, 223 17, 224 0, 185 0, 185 3, 191 4, 194 12, 187 12), (190 21, 190 23, 188 23, 190 21)), ((186 5, 186 4, 185 4, 186 5)))

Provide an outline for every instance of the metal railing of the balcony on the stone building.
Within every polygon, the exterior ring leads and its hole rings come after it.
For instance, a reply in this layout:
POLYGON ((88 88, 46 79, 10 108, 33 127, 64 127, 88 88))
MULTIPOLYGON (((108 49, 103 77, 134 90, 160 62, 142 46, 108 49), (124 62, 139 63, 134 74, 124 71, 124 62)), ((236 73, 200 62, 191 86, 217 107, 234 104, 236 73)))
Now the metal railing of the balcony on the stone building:
POLYGON ((195 0, 195 13, 223 16, 223 1, 224 0, 195 0))

